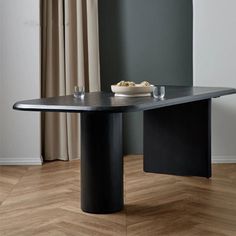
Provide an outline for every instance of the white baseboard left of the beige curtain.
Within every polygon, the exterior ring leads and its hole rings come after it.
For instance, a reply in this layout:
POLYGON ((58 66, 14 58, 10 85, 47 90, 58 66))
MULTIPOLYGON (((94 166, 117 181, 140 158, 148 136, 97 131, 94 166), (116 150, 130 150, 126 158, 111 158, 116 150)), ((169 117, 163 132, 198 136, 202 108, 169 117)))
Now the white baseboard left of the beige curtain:
POLYGON ((22 157, 0 157, 0 165, 42 165, 42 157, 22 158, 22 157))

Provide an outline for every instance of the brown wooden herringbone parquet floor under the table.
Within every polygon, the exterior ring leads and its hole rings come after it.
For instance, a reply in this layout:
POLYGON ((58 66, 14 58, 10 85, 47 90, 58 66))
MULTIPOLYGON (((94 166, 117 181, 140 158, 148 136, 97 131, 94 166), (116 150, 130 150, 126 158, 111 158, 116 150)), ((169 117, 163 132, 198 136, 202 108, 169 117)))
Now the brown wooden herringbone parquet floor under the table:
POLYGON ((144 173, 125 158, 125 209, 80 210, 79 161, 0 167, 0 235, 236 235, 236 164, 212 179, 144 173))

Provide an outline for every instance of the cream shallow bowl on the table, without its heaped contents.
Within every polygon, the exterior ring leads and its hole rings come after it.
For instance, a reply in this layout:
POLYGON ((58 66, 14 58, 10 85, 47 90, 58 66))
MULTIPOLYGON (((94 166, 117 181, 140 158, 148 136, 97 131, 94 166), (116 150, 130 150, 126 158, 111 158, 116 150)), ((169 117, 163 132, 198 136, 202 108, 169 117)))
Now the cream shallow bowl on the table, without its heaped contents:
POLYGON ((111 85, 111 91, 115 94, 123 94, 123 95, 135 95, 135 94, 147 94, 151 93, 153 90, 153 86, 117 86, 111 85))

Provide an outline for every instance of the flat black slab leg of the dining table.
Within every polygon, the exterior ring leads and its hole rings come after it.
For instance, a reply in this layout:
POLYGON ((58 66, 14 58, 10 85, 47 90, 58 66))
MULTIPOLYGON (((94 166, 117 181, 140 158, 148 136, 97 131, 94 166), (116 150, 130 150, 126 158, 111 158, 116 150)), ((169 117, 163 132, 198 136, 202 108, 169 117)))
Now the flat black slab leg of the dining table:
POLYGON ((211 100, 144 112, 144 171, 211 177, 211 100))

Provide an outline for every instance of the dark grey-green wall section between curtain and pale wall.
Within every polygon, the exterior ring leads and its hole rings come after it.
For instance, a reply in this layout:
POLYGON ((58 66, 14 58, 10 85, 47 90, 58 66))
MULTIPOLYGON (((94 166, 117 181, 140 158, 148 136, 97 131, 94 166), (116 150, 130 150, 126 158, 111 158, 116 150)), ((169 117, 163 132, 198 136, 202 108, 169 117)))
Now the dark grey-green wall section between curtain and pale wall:
MULTIPOLYGON (((98 7, 103 91, 120 80, 192 85, 192 0, 99 0, 98 7)), ((124 115, 125 153, 143 153, 142 118, 124 115)))

